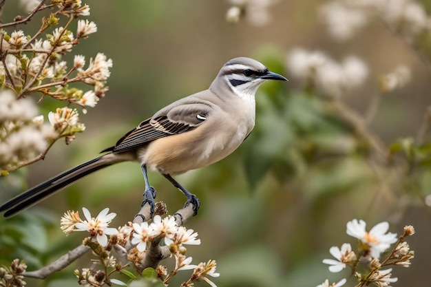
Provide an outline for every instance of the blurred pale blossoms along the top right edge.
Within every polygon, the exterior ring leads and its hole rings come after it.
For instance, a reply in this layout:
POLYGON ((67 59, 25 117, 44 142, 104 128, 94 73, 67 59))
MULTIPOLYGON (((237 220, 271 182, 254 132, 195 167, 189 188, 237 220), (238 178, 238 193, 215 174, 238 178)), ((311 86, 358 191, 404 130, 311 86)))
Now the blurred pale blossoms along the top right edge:
POLYGON ((408 39, 431 32, 431 17, 416 0, 335 0, 322 6, 321 18, 334 39, 346 41, 377 17, 408 39))

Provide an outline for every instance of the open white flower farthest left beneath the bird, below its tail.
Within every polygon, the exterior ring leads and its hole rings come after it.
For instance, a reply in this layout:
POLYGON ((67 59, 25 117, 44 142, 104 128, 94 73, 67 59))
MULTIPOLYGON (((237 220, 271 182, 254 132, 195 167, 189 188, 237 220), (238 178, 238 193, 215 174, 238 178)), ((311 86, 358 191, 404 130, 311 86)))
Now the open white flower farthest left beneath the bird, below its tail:
POLYGON ((116 217, 116 213, 108 213, 109 209, 103 209, 96 218, 92 217, 90 211, 83 207, 85 221, 75 224, 76 231, 88 231, 92 237, 96 236, 97 242, 101 246, 107 246, 107 235, 118 233, 116 228, 108 228, 108 224, 116 217))

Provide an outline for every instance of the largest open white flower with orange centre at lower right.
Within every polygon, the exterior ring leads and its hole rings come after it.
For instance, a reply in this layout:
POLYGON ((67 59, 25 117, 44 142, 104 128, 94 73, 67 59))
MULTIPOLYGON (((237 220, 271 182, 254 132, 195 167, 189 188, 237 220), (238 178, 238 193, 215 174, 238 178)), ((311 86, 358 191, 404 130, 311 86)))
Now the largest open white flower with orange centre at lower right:
POLYGON ((390 247, 390 244, 397 242, 397 234, 386 233, 389 229, 388 222, 380 222, 371 228, 370 232, 366 231, 364 220, 352 220, 347 222, 346 233, 353 236, 369 247, 370 256, 379 258, 390 247))

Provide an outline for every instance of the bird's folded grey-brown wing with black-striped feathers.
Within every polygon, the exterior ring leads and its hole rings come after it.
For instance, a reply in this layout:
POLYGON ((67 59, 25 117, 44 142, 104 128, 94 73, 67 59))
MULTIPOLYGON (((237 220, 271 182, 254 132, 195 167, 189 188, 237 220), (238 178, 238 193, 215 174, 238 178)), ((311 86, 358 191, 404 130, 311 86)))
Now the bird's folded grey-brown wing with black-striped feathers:
POLYGON ((212 111, 211 105, 205 101, 185 100, 174 104, 161 109, 152 118, 144 120, 138 127, 120 138, 114 147, 104 151, 129 151, 158 138, 190 131, 201 125, 212 111))

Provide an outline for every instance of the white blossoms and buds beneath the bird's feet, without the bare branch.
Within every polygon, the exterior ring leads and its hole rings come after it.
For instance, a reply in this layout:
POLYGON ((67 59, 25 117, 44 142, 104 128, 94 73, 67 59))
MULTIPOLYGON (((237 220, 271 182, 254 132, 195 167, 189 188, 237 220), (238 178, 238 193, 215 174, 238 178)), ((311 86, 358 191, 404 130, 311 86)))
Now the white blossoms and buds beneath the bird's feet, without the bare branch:
MULTIPOLYGON (((101 264, 107 267, 121 269, 117 265, 117 259, 109 255, 109 251, 116 246, 127 252, 127 260, 138 268, 145 260, 147 248, 153 242, 164 240, 164 246, 169 248, 171 256, 176 260, 174 270, 169 274, 165 266, 158 266, 156 273, 162 281, 167 284, 169 279, 180 270, 193 269, 193 273, 188 281, 182 286, 193 286, 193 281, 206 281, 210 286, 215 286, 208 276, 218 277, 220 274, 215 272, 215 261, 209 260, 207 263, 201 262, 198 265, 191 264, 192 257, 187 257, 187 248, 184 245, 199 245, 198 233, 193 229, 178 226, 175 217, 166 216, 162 218, 155 215, 151 223, 142 222, 129 223, 119 228, 110 228, 116 213, 109 213, 109 209, 103 209, 96 217, 92 217, 90 211, 83 208, 85 220, 81 219, 78 211, 67 211, 61 217, 61 229, 66 234, 74 231, 87 231, 90 238, 84 240, 84 244, 91 246, 94 253, 100 256, 101 264)), ((102 286, 107 282, 125 285, 118 279, 110 279, 105 273, 84 268, 75 271, 80 284, 90 286, 102 286)))

